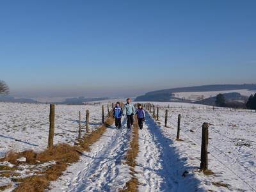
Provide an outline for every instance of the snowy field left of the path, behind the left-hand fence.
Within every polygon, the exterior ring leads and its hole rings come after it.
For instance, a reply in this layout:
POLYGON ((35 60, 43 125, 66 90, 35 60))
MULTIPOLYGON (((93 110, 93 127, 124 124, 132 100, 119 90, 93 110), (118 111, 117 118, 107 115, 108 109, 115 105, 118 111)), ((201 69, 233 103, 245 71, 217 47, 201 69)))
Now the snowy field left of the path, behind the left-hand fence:
MULTIPOLYGON (((83 128, 87 109, 90 111, 90 129, 100 125, 101 108, 100 104, 56 105, 54 144, 72 144, 77 140, 78 111, 81 111, 83 128)), ((9 150, 33 149, 38 151, 47 148, 49 105, 0 102, 0 109, 0 157, 3 157, 9 150)))

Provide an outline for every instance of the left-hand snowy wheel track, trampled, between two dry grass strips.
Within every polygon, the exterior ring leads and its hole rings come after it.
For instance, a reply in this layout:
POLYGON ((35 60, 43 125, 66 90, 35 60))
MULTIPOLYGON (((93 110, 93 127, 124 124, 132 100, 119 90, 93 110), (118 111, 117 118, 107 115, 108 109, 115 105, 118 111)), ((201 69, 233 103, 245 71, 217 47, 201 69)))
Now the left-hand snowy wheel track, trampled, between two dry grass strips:
MULTIPOLYGON (((125 120, 123 121, 124 124, 125 120)), ((129 166, 123 163, 131 132, 111 126, 84 152, 79 163, 68 167, 51 191, 118 191, 131 179, 129 166)))

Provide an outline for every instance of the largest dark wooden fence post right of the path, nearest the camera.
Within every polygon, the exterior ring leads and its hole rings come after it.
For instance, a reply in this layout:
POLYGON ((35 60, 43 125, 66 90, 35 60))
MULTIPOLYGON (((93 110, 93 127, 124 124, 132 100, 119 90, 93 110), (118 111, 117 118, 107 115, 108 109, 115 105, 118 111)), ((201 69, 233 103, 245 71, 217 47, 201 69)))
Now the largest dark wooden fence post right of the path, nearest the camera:
POLYGON ((201 164, 200 170, 208 169, 208 123, 202 126, 202 146, 201 146, 201 164))

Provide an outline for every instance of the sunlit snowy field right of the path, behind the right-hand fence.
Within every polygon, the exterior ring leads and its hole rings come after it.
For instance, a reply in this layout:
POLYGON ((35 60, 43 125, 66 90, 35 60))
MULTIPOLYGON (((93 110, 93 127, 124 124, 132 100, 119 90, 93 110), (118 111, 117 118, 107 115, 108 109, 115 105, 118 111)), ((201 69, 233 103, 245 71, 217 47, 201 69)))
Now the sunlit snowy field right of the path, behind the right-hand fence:
POLYGON ((256 189, 256 113, 249 110, 230 111, 230 109, 206 109, 206 106, 155 102, 161 106, 170 105, 168 127, 164 127, 165 109, 159 109, 159 129, 164 138, 170 141, 170 148, 175 148, 178 156, 188 166, 188 172, 200 180, 199 188, 214 191, 255 191, 256 189), (175 108, 174 108, 175 106, 175 108), (180 106, 182 108, 180 108, 180 106), (190 108, 189 108, 190 107, 190 108), (177 117, 181 114, 180 138, 177 134, 177 117), (209 127, 209 169, 214 175, 198 172, 200 166, 200 147, 202 124, 209 127), (191 167, 191 168, 189 168, 191 167), (227 184, 217 187, 215 184, 227 184))

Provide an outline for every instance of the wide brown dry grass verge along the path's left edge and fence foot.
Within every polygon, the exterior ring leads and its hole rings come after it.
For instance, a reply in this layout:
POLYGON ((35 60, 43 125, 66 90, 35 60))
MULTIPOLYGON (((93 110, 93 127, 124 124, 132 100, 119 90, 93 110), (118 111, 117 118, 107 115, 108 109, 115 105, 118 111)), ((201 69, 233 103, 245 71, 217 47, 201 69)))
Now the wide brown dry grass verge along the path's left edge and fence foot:
MULTIPOLYGON (((112 115, 110 115, 112 116, 112 115)), ((13 164, 20 164, 17 161, 19 157, 26 157, 26 164, 38 164, 48 161, 56 161, 56 164, 52 164, 50 168, 42 172, 38 172, 39 175, 33 175, 26 178, 12 179, 15 182, 21 182, 15 192, 40 192, 49 187, 49 182, 57 180, 58 177, 67 169, 69 163, 76 163, 79 160, 81 152, 83 150, 90 150, 90 145, 99 140, 107 126, 113 124, 113 118, 107 118, 104 125, 99 129, 92 131, 90 135, 84 136, 83 141, 79 141, 79 146, 71 146, 65 143, 60 143, 52 148, 48 148, 44 152, 35 153, 33 150, 27 150, 21 153, 10 152, 6 154, 6 157, 0 159, 0 161, 9 161, 13 164)))

